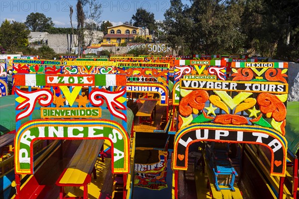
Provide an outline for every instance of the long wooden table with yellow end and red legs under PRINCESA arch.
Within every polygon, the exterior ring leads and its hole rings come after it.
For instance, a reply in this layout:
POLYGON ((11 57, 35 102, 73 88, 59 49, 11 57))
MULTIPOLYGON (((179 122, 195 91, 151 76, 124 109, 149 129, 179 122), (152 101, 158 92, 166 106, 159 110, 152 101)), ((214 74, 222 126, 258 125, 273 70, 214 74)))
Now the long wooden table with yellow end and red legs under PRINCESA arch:
MULTIPOLYGON (((60 187, 60 199, 65 199, 64 187, 84 187, 83 199, 88 199, 87 186, 91 182, 91 173, 95 172, 95 163, 104 140, 83 140, 74 156, 64 169, 56 185, 60 187)), ((82 197, 81 197, 82 198, 82 197)))

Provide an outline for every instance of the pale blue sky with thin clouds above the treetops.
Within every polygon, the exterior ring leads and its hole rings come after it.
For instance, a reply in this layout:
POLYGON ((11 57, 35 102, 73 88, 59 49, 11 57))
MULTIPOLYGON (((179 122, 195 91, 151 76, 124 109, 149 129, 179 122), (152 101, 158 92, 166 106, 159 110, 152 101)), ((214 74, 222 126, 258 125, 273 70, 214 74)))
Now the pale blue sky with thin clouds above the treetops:
MULTIPOLYGON (((169 8, 169 0, 99 0, 102 3, 101 20, 109 20, 113 25, 130 21, 137 8, 143 7, 154 13, 155 20, 163 20, 169 8)), ((187 0, 182 0, 187 3, 187 0)), ((77 0, 0 0, 0 22, 7 18, 24 22, 31 12, 44 13, 51 17, 56 27, 70 27, 69 5, 73 5, 73 25, 76 26, 77 0)))

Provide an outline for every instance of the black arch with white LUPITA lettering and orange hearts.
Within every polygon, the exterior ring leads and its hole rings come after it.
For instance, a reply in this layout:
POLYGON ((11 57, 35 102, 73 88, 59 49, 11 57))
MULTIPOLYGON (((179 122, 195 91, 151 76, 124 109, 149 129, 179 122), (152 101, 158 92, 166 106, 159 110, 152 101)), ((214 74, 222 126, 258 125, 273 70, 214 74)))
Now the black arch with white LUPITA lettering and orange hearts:
POLYGON ((259 144, 270 149, 271 175, 285 176, 287 142, 270 128, 223 124, 193 124, 178 131, 174 137, 173 169, 187 170, 188 147, 199 141, 259 144))

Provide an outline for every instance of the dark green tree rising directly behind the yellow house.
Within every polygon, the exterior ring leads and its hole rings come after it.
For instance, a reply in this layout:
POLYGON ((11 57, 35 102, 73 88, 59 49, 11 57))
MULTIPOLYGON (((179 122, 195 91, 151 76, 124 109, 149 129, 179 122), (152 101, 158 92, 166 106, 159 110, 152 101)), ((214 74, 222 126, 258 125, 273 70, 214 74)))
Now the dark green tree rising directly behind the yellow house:
POLYGON ((137 8, 136 14, 132 16, 131 23, 137 27, 146 27, 151 32, 157 27, 155 25, 154 14, 144 8, 137 8))

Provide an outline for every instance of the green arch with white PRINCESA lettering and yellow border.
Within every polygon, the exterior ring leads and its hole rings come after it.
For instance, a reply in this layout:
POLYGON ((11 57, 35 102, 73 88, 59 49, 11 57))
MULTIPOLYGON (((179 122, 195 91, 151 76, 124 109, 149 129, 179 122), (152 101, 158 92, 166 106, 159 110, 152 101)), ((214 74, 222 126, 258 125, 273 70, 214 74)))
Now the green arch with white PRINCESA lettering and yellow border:
POLYGON ((16 132, 15 174, 33 174, 33 142, 37 139, 107 139, 111 142, 112 173, 129 173, 129 136, 112 120, 34 120, 16 132))

